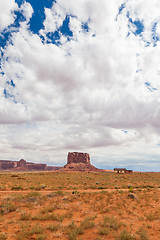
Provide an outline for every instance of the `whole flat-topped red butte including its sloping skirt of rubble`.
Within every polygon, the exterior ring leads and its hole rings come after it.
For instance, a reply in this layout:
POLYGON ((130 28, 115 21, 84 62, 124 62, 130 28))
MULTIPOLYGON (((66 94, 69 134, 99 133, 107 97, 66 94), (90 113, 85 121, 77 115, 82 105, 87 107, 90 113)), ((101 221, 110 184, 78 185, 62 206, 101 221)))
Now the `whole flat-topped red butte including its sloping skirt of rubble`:
POLYGON ((69 152, 67 164, 60 169, 60 171, 101 171, 90 163, 90 156, 88 153, 69 152))

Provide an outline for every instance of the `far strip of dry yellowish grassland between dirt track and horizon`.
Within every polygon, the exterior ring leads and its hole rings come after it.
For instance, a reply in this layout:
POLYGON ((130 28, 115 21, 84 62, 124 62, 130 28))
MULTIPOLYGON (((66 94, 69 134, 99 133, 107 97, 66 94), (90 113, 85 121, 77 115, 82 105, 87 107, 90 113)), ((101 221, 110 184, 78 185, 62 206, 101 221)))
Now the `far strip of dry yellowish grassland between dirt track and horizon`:
POLYGON ((1 190, 153 189, 160 173, 24 172, 0 173, 1 190))

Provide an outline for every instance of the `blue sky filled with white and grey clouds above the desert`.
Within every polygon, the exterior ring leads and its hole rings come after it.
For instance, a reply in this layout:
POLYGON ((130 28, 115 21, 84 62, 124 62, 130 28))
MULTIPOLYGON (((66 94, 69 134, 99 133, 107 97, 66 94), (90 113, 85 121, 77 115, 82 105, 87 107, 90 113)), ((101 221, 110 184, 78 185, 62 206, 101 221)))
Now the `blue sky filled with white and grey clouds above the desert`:
POLYGON ((159 9, 1 0, 0 159, 160 171, 159 9))

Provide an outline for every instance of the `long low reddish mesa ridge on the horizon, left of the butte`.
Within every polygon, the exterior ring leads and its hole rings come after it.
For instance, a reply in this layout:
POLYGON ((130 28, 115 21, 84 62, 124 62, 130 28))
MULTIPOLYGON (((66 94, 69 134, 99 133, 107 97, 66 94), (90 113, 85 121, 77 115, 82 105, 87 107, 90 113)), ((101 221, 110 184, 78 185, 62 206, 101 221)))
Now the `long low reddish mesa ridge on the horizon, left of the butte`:
POLYGON ((30 163, 24 159, 20 161, 0 160, 0 170, 6 171, 54 171, 60 167, 47 166, 42 163, 30 163))

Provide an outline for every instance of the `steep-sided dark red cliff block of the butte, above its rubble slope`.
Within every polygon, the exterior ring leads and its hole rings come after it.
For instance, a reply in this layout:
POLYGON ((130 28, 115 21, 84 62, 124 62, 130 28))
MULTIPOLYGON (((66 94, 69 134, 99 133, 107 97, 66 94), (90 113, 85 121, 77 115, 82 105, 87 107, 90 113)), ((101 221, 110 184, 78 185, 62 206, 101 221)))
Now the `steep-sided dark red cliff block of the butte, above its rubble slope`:
POLYGON ((90 156, 88 153, 69 152, 67 158, 67 164, 70 163, 84 163, 90 164, 90 156))

